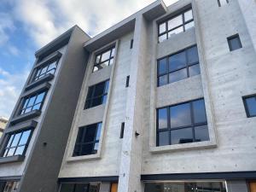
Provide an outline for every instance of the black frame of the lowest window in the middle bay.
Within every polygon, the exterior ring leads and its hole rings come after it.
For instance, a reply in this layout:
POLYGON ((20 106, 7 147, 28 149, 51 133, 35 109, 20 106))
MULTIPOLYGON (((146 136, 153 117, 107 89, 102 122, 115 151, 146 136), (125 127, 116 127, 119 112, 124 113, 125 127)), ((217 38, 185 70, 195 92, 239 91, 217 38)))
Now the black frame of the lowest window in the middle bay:
POLYGON ((85 155, 90 155, 90 154, 97 154, 98 150, 96 150, 96 153, 95 153, 95 144, 98 143, 98 145, 100 144, 100 141, 101 141, 101 136, 102 134, 100 133, 100 138, 99 139, 96 139, 97 137, 97 132, 98 132, 98 129, 99 129, 99 125, 101 125, 101 130, 102 131, 102 122, 98 122, 98 123, 95 123, 95 124, 90 124, 90 125, 85 125, 85 126, 80 126, 79 127, 79 131, 78 131, 78 135, 77 135, 77 138, 76 138, 76 143, 74 145, 74 148, 73 148, 73 157, 78 157, 78 156, 85 156, 85 155), (94 135, 94 138, 93 138, 93 141, 92 142, 81 142, 79 143, 78 142, 78 139, 79 139, 79 133, 83 133, 83 136, 82 136, 82 141, 84 141, 85 139, 85 136, 86 136, 86 129, 89 127, 89 126, 92 126, 92 125, 96 125, 96 131, 95 131, 95 135, 94 135), (85 129, 85 131, 81 131, 82 129, 85 129), (90 154, 82 154, 82 148, 84 145, 90 145, 90 144, 93 144, 93 148, 92 148, 92 151, 90 152, 90 154), (77 145, 79 145, 79 154, 75 154, 75 150, 77 148, 77 145))

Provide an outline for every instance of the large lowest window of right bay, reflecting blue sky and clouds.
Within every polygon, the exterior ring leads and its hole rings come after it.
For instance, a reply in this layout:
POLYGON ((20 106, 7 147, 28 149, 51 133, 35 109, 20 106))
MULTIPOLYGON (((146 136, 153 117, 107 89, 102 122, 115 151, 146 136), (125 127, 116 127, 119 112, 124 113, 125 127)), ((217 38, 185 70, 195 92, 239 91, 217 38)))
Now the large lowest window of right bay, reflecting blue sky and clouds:
POLYGON ((208 140, 204 99, 157 109, 157 146, 208 140))

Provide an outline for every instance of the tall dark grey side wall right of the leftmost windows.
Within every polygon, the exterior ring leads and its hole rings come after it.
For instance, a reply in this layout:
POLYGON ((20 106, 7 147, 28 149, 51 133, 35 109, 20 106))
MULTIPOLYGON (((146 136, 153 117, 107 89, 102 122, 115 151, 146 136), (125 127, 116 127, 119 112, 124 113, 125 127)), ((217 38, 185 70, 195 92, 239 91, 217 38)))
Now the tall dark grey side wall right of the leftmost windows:
POLYGON ((81 39, 88 40, 84 32, 75 28, 49 95, 42 125, 38 127, 37 141, 20 181, 20 192, 54 192, 58 189, 58 172, 88 59, 81 39))

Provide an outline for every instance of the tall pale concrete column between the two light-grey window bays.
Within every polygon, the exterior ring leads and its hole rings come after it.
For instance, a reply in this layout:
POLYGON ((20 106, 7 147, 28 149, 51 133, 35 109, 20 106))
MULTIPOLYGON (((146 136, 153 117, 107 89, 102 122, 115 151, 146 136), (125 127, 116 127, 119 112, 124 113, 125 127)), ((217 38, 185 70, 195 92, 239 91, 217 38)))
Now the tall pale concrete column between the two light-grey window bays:
POLYGON ((147 23, 137 15, 131 55, 130 82, 126 103, 125 134, 122 144, 119 192, 142 192, 140 181, 143 146, 143 108, 147 51, 147 23), (140 135, 136 136, 136 132, 140 135))

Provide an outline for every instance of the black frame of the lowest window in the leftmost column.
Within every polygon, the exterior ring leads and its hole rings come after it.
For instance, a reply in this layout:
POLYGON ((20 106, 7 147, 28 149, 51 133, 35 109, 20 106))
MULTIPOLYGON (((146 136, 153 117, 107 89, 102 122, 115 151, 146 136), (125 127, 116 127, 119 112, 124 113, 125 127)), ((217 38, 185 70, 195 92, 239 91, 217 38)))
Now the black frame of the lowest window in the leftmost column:
POLYGON ((15 155, 22 155, 22 156, 25 156, 25 154, 26 154, 26 149, 28 148, 28 145, 29 145, 30 140, 31 140, 31 138, 32 138, 32 133, 33 133, 33 129, 27 128, 27 129, 22 129, 22 130, 20 130, 20 131, 9 132, 8 134, 6 134, 6 137, 7 137, 7 138, 6 138, 5 143, 4 143, 4 148, 3 148, 2 151, 1 151, 1 157, 2 157, 2 158, 5 158, 5 157, 12 157, 12 156, 15 156, 15 155), (26 143, 20 145, 20 139, 21 139, 21 137, 23 136, 23 133, 26 132, 26 131, 30 131, 29 136, 28 136, 28 138, 27 138, 27 140, 26 140, 26 143), (14 147, 11 147, 12 143, 14 142, 15 135, 20 134, 20 133, 21 133, 21 135, 20 135, 20 138, 19 138, 18 143, 17 143, 14 147), (13 135, 14 135, 14 137, 12 137, 13 135), (10 139, 11 139, 11 143, 9 143, 9 140, 10 140, 10 139), (8 144, 9 144, 9 147, 7 146, 8 144), (17 148, 22 147, 22 146, 25 146, 25 148, 23 149, 22 154, 15 154, 17 148), (11 155, 11 156, 6 156, 6 155, 5 155, 5 156, 4 156, 5 151, 8 150, 8 151, 7 151, 7 154, 8 154, 10 148, 15 148, 14 155, 11 155))

